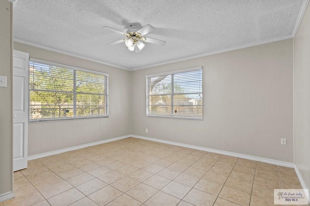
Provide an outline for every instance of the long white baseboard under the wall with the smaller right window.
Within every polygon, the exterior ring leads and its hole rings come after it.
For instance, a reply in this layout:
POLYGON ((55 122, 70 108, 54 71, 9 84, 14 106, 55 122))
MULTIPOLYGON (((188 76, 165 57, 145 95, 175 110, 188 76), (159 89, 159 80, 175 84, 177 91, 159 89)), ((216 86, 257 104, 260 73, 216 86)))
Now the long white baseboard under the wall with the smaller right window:
POLYGON ((248 160, 254 160, 254 161, 259 161, 259 162, 275 164, 275 165, 284 166, 284 167, 294 168, 294 166, 295 166, 295 164, 291 163, 291 162, 282 162, 282 161, 278 161, 278 160, 255 157, 255 156, 251 156, 251 155, 239 154, 239 153, 234 153, 234 152, 227 152, 227 151, 223 151, 223 150, 211 149, 211 148, 206 148, 206 147, 199 147, 199 146, 194 146, 194 145, 187 145, 187 144, 183 144, 183 143, 171 142, 171 141, 167 141, 167 140, 138 136, 138 135, 133 135, 133 134, 130 136, 135 137, 135 138, 139 138, 139 139, 145 139, 145 140, 150 140, 150 141, 154 141, 154 142, 165 143, 165 144, 169 144, 169 145, 187 147, 187 148, 198 149, 198 150, 207 151, 207 152, 214 152, 214 153, 222 154, 222 155, 228 155, 228 156, 244 158, 244 159, 248 159, 248 160))

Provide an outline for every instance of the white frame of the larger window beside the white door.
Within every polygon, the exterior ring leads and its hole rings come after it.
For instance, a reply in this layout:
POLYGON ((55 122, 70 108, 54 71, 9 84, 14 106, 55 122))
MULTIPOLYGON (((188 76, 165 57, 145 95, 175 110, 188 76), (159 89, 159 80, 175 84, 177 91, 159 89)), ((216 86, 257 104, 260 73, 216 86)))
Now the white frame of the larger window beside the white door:
MULTIPOLYGON (((104 105, 106 107, 106 111, 107 114, 106 115, 96 115, 96 116, 74 116, 74 117, 66 117, 66 118, 41 118, 41 119, 31 119, 31 109, 30 109, 30 92, 31 92, 31 88, 30 88, 30 82, 28 85, 28 92, 29 92, 29 113, 28 113, 28 120, 29 123, 36 123, 36 122, 48 122, 48 121, 62 121, 62 120, 77 120, 77 119, 90 119, 90 118, 108 118, 109 117, 109 74, 107 73, 103 73, 103 72, 97 72, 97 71, 93 71, 93 70, 89 70, 89 69, 83 69, 83 68, 79 68, 79 67, 75 67, 75 66, 71 66, 71 65, 66 65, 66 64, 61 64, 61 63, 56 63, 56 62, 51 62, 51 61, 46 61, 46 60, 42 60, 42 59, 34 59, 34 58, 29 58, 29 62, 33 62, 33 63, 38 63, 38 64, 44 64, 44 65, 48 65, 48 66, 54 66, 54 67, 60 67, 63 69, 68 69, 68 70, 74 70, 74 71, 80 71, 80 72, 85 72, 85 73, 89 73, 89 74, 98 74, 98 75, 104 75, 107 77, 107 87, 106 87, 106 104, 104 105)), ((28 65, 30 67, 30 63, 28 65)), ((30 68, 29 68, 29 74, 30 76, 30 68)), ((76 76, 74 76, 74 84, 73 87, 76 88, 76 76)), ((73 91, 73 95, 76 96, 78 92, 73 91)), ((73 100, 73 107, 76 109, 77 108, 77 101, 76 99, 73 100)), ((74 112, 74 114, 76 113, 76 111, 74 112)))

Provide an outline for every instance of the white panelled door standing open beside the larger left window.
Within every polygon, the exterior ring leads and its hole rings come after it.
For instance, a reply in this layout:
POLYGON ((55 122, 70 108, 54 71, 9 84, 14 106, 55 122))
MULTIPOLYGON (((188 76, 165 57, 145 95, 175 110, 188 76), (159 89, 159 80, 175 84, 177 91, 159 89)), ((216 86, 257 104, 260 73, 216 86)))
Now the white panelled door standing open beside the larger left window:
POLYGON ((27 168, 29 54, 14 50, 13 57, 13 169, 27 168))

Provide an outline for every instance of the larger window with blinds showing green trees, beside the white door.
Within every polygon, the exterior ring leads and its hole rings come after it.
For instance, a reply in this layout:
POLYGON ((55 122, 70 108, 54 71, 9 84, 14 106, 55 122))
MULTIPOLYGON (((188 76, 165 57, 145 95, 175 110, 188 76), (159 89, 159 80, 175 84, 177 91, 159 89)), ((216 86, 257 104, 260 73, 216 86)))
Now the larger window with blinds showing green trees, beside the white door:
POLYGON ((108 76, 30 59, 30 121, 108 117, 108 76))

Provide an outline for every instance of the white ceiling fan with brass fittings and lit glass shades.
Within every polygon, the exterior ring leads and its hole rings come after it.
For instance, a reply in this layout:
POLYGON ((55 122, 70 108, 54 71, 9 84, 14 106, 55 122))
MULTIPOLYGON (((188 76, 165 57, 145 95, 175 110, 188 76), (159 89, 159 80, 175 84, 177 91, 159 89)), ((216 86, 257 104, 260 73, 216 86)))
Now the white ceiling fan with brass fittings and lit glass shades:
POLYGON ((165 41, 144 36, 145 34, 148 34, 151 31, 155 30, 155 28, 150 24, 147 24, 141 29, 139 29, 137 25, 130 25, 129 29, 126 32, 113 29, 111 27, 103 27, 103 28, 108 29, 110 31, 114 31, 119 34, 123 34, 126 37, 126 39, 117 40, 107 45, 113 45, 113 44, 119 44, 119 43, 125 42, 125 45, 128 47, 128 50, 135 51, 136 53, 141 52, 141 50, 144 48, 145 46, 144 42, 152 43, 152 44, 159 44, 159 45, 166 44, 165 41))

